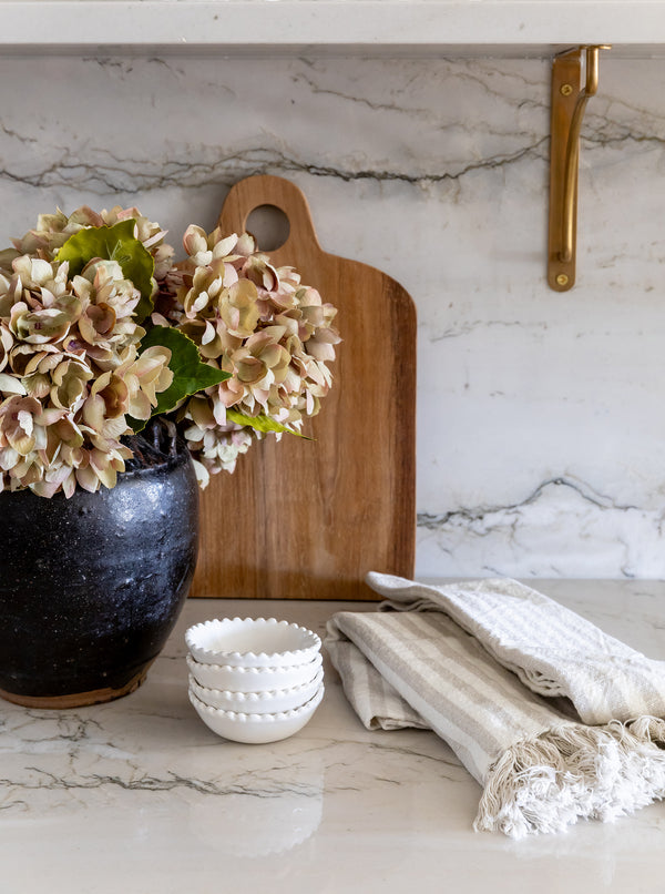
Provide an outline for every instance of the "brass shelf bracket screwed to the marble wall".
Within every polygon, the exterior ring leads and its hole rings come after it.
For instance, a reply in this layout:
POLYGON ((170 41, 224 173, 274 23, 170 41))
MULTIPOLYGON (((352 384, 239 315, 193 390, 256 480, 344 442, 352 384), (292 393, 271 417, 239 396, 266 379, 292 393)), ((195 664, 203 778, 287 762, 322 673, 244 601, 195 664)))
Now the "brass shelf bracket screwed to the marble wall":
POLYGON ((598 89, 600 51, 608 49, 605 44, 577 47, 552 63, 548 283, 556 292, 567 292, 575 283, 580 130, 586 103, 598 89))

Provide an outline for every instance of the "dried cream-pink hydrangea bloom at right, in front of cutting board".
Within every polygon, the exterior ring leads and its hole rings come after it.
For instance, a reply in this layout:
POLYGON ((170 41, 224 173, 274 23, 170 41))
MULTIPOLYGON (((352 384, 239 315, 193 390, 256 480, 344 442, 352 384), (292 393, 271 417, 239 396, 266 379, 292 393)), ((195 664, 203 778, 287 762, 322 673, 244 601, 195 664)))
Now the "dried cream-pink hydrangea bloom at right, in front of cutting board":
POLYGON ((166 276, 155 318, 177 326, 208 364, 231 374, 180 410, 205 478, 233 471, 265 430, 298 431, 318 413, 340 339, 335 307, 295 270, 275 267, 249 234, 190 226, 183 244, 188 257, 166 276))

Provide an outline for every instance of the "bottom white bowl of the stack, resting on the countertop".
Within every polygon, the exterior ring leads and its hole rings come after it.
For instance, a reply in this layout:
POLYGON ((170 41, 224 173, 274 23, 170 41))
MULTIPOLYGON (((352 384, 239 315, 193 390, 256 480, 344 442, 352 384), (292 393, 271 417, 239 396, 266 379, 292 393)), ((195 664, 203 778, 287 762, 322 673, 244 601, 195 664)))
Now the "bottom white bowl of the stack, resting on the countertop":
POLYGON ((311 719, 323 698, 324 687, 320 685, 313 699, 293 711, 282 711, 275 714, 245 714, 211 708, 190 690, 190 701, 206 727, 232 742, 248 744, 279 742, 282 739, 288 739, 289 735, 299 732, 311 719))

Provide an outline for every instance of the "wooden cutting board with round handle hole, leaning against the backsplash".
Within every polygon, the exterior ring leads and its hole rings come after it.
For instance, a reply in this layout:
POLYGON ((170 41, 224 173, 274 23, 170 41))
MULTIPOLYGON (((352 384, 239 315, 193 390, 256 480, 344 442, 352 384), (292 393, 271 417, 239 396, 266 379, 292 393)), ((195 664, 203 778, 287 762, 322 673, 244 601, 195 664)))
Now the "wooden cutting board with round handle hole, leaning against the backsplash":
MULTIPOLYGON (((318 244, 309 207, 287 180, 253 176, 228 193, 224 233, 263 205, 288 217, 270 252, 338 308, 334 384, 303 433, 254 444, 202 495, 192 596, 375 599, 367 571, 412 577, 416 532, 416 311, 386 274, 318 244)), ((352 209, 349 209, 352 213, 352 209)))

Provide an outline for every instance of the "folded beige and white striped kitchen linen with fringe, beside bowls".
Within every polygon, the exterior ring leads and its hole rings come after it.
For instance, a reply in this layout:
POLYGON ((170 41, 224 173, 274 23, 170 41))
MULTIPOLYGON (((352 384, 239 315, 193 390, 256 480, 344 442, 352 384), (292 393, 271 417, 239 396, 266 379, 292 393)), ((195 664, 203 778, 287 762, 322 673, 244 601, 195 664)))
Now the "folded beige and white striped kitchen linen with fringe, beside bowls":
POLYGON ((477 830, 555 832, 665 796, 665 662, 514 580, 368 583, 379 611, 328 622, 345 692, 368 729, 448 742, 483 788, 477 830))

